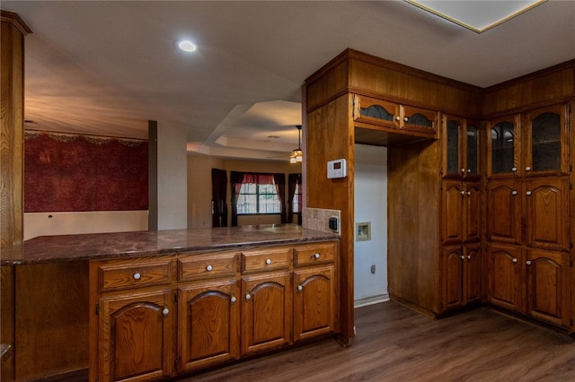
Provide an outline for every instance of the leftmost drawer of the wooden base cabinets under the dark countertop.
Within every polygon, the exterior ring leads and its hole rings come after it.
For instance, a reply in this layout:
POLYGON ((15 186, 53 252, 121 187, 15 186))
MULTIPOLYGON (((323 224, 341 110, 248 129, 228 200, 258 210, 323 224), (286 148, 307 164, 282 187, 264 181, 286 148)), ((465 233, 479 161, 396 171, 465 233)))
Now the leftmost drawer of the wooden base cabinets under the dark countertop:
POLYGON ((114 261, 98 266, 100 291, 119 291, 172 281, 172 259, 114 261))

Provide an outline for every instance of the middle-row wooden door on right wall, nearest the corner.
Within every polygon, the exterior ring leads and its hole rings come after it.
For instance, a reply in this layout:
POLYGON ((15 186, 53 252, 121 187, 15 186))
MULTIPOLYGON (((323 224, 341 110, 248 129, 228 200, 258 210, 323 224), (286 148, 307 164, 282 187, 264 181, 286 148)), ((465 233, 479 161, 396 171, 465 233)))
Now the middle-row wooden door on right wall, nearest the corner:
POLYGON ((487 239, 509 244, 521 242, 521 184, 518 180, 488 181, 487 239))

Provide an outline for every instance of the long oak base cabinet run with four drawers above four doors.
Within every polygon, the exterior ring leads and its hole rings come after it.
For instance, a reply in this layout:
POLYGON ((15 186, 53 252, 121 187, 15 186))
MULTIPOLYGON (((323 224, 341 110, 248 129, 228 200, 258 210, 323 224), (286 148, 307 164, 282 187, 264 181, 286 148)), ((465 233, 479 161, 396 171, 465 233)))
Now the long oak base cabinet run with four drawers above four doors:
POLYGON ((205 369, 336 330, 337 241, 92 261, 90 380, 205 369))

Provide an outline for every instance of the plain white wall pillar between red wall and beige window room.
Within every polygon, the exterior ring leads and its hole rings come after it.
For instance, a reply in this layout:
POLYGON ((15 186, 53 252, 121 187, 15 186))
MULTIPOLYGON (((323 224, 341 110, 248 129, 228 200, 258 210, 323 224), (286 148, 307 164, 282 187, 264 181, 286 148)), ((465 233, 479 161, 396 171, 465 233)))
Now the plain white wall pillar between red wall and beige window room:
MULTIPOLYGON (((186 126, 158 122, 158 230, 188 227, 188 160, 186 126)), ((209 185, 206 185, 208 187, 209 185)))

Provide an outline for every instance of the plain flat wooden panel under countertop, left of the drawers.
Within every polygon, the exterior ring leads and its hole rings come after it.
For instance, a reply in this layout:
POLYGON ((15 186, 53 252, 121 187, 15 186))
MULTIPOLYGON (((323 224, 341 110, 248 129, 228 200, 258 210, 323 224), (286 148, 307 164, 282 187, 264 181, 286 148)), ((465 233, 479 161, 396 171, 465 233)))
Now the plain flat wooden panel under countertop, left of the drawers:
POLYGON ((16 380, 88 367, 88 264, 19 265, 16 380))

